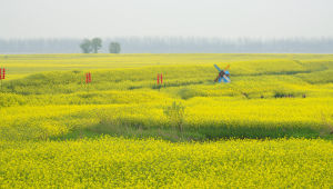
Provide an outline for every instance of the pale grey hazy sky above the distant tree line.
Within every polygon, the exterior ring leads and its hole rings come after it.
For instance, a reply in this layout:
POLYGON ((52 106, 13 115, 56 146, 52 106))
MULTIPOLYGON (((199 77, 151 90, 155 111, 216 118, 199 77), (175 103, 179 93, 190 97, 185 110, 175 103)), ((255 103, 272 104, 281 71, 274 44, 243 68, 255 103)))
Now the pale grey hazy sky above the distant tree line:
POLYGON ((333 37, 332 0, 0 0, 0 38, 333 37))

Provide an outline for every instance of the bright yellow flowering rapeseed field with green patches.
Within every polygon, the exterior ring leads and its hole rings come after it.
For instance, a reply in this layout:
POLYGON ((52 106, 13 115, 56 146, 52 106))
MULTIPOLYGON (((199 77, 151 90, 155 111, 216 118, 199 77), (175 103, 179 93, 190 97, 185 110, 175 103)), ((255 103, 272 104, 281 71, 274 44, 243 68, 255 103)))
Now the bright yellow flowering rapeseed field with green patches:
POLYGON ((333 54, 12 54, 3 67, 0 188, 332 187, 333 54), (231 83, 213 82, 214 63, 231 83))

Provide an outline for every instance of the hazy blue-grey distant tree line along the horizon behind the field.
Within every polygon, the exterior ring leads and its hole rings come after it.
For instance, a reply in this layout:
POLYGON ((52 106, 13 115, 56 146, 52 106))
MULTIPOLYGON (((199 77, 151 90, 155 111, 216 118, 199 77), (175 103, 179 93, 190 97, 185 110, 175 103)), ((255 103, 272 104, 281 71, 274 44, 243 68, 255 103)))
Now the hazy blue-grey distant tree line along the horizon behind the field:
MULTIPOLYGON (((121 37, 100 40, 101 46, 94 40, 87 52, 108 53, 111 43, 117 41, 122 53, 333 53, 333 38, 121 37), (102 41, 109 46, 102 46, 102 41)), ((0 53, 81 53, 84 41, 68 38, 0 39, 0 53)))

